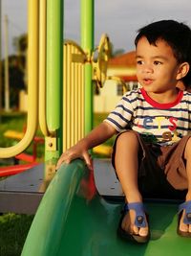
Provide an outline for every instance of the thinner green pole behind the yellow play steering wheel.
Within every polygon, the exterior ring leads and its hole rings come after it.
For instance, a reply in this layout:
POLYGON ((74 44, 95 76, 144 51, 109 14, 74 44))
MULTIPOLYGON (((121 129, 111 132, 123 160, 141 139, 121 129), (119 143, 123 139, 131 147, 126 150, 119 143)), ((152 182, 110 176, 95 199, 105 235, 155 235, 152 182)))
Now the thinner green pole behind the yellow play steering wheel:
MULTIPOLYGON (((81 47, 91 57, 94 50, 94 0, 81 0, 81 47)), ((93 128, 92 64, 85 64, 85 134, 93 128)))

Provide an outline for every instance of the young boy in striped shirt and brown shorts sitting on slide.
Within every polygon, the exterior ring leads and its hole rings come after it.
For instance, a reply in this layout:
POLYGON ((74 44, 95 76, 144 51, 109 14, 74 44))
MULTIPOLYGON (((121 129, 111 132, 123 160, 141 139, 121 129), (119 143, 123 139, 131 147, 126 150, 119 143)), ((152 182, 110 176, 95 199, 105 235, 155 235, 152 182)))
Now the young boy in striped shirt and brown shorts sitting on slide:
POLYGON ((112 162, 126 199, 119 235, 148 242, 142 197, 186 191, 178 233, 191 237, 191 94, 179 89, 191 83, 191 30, 161 20, 140 29, 135 44, 140 88, 127 92, 106 120, 65 151, 57 168, 82 157, 92 169, 88 150, 117 134, 112 162))

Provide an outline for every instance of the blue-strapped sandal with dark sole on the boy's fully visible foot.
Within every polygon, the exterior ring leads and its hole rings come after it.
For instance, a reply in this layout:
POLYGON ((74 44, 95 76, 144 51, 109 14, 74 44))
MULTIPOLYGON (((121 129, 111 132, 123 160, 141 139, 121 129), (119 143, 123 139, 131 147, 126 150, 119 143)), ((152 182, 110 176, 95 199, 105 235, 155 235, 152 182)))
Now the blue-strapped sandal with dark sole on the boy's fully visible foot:
MULTIPOLYGON (((146 218, 148 221, 148 216, 147 215, 145 216, 143 203, 142 202, 125 203, 124 208, 121 212, 122 216, 118 224, 117 234, 120 238, 127 241, 133 241, 137 243, 147 243, 150 239, 150 233, 148 233, 147 236, 139 236, 133 233, 133 231, 130 229, 128 231, 124 230, 121 226, 124 216, 128 214, 128 211, 131 209, 136 211, 135 225, 138 226, 138 228, 147 226, 146 218)), ((129 222, 129 226, 130 225, 131 225, 131 222, 129 222)))

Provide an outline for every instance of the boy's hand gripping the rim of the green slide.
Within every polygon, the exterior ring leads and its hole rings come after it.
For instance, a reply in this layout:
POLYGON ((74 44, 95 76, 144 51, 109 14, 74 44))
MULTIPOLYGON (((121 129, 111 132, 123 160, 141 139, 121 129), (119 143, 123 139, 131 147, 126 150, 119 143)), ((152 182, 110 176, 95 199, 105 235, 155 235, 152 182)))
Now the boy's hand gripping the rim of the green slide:
POLYGON ((62 155, 57 161, 55 169, 56 170, 59 169, 62 163, 69 164, 72 160, 76 158, 84 159, 88 168, 90 170, 93 170, 93 161, 92 161, 91 155, 89 154, 88 151, 81 150, 77 146, 74 146, 68 151, 65 151, 62 153, 62 155))

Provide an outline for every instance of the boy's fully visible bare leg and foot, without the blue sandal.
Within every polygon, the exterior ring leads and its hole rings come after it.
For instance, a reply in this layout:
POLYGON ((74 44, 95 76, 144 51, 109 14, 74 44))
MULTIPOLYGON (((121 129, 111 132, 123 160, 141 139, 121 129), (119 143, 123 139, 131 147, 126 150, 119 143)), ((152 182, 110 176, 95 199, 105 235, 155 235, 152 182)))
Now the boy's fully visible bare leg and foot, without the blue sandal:
MULTIPOLYGON (((118 179, 128 203, 142 201, 142 197, 138 191, 138 149, 138 136, 134 132, 123 132, 117 138, 115 166, 118 179)), ((135 217, 135 211, 130 210, 129 214, 122 221, 122 228, 128 231, 129 222, 131 222, 131 229, 135 234, 146 236, 148 234, 148 226, 139 228, 138 230, 138 227, 133 224, 135 217)))

